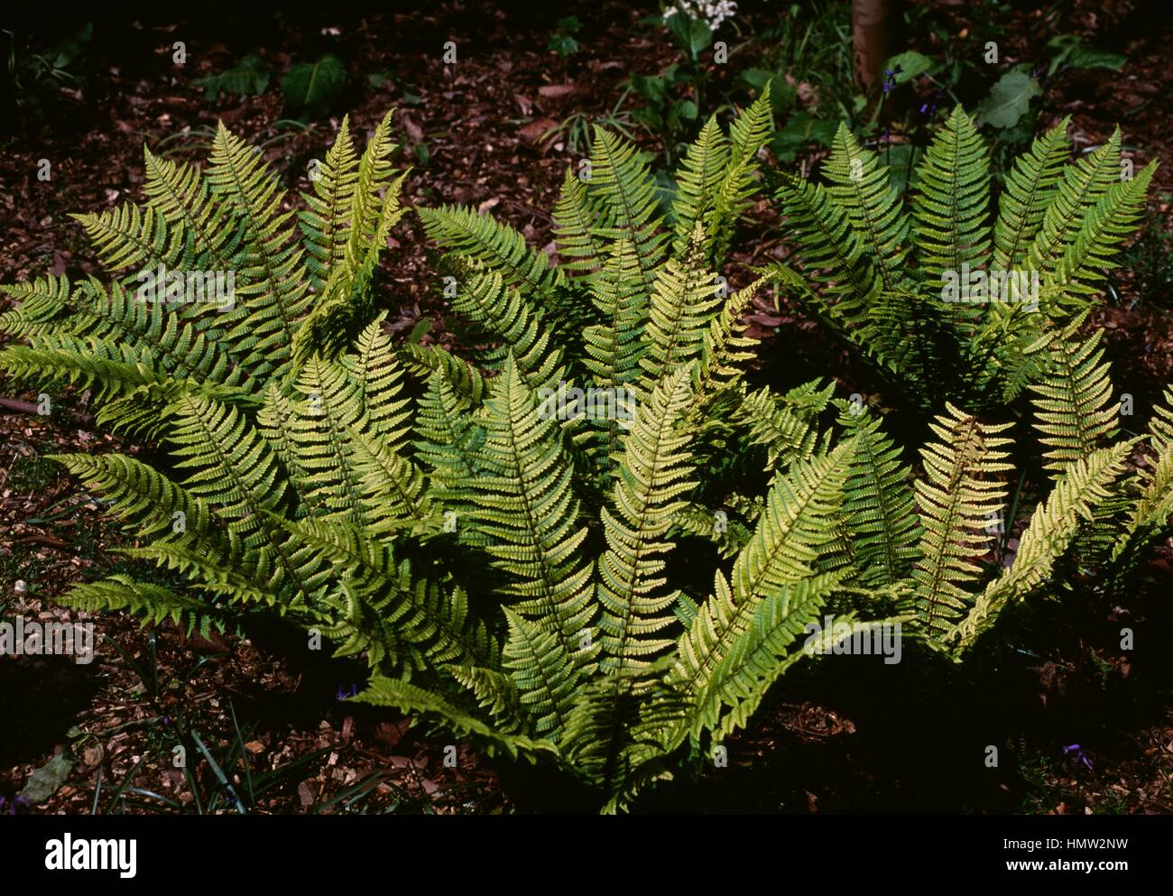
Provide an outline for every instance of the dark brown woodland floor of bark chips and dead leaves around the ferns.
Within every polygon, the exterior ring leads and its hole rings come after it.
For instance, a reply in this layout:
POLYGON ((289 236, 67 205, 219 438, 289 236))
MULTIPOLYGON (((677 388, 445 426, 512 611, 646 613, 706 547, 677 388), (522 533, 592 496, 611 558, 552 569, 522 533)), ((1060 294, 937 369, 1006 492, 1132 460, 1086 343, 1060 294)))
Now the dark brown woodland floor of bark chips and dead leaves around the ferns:
MULTIPOLYGON (((554 13, 535 20, 507 12, 440 0, 428 12, 323 20, 337 27, 350 48, 350 70, 394 73, 381 87, 364 83, 343 97, 352 129, 365 134, 386 109, 398 107, 401 157, 416 168, 407 182, 411 204, 462 203, 491 210, 547 245, 549 209, 565 167, 576 161, 557 141, 541 135, 571 113, 605 113, 621 83, 639 70, 653 74, 674 61, 666 40, 638 23, 650 9, 601 2, 577 5, 576 35, 583 50, 563 60, 545 49, 554 13), (439 52, 421 47, 456 40, 461 59, 443 66, 439 52), (402 74, 404 77, 399 75, 402 74), (419 101, 413 102, 414 97, 419 101), (421 162, 415 145, 427 147, 421 162)), ((1101 4, 1065 5, 1047 32, 1094 36, 1101 4)), ((1118 6, 1118 5, 1113 5, 1118 6)), ((523 7, 520 7, 523 8, 523 7)), ((1123 7, 1127 12, 1127 7, 1123 7)), ((945 6, 950 33, 975 26, 967 5, 945 6)), ((1015 13, 1022 27, 1009 34, 1028 41, 1037 25, 1015 13)), ((1169 25, 1124 16, 1131 30, 1112 35, 1128 57, 1123 73, 1094 72, 1052 86, 1047 108, 1057 120, 1073 116, 1083 144, 1108 136, 1114 123, 1126 142, 1164 149, 1173 122, 1169 25)), ((127 39, 141 53, 90 61, 90 76, 65 97, 54 117, 5 147, 0 154, 0 280, 45 272, 72 277, 99 269, 81 228, 69 212, 99 211, 142 184, 142 144, 169 141, 179 155, 199 157, 206 128, 223 118, 250 141, 272 138, 266 157, 294 189, 307 189, 307 159, 332 138, 337 118, 305 131, 274 129, 282 117, 278 90, 259 97, 222 96, 208 103, 191 81, 258 52, 280 68, 289 56, 311 57, 331 38, 301 23, 272 27, 263 36, 233 27, 232 46, 218 42, 212 26, 179 21, 143 22, 127 39), (169 65, 172 39, 188 41, 194 61, 169 65), (280 47, 282 50, 265 49, 280 47), (187 137, 175 135, 189 128, 187 137), (177 142, 176 142, 177 141, 177 142), (54 162, 52 184, 35 177, 38 159, 54 162)), ((259 33, 259 32, 258 32, 259 33)), ((100 52, 100 50, 95 50, 100 52)), ((1028 47, 1012 53, 1025 55, 1028 47)), ((656 147, 649 142, 649 149, 656 147)), ((816 158, 816 157, 814 157, 816 158)), ((814 158, 802 159, 808 167, 814 158)), ((1138 164, 1139 168, 1139 164, 1138 164)), ((1150 223, 1168 235, 1173 165, 1157 176, 1150 223)), ((751 215, 732 267, 785 256, 777 218, 765 203, 751 215)), ((382 298, 396 332, 419 319, 443 339, 442 300, 418 222, 404 218, 387 253, 388 287, 382 298)), ((735 276, 734 285, 737 285, 735 276)), ((1173 369, 1173 296, 1148 290, 1144 301, 1134 280, 1113 281, 1120 303, 1098 312, 1113 361, 1113 378, 1133 391, 1165 383, 1173 369)), ((0 298, 0 310, 7 299, 0 298)), ((768 297, 752 317, 762 339, 752 376, 779 388, 814 376, 835 376, 848 392, 873 383, 850 353, 826 341, 813 321, 768 297)), ((0 379, 0 398, 30 401, 33 392, 0 379)), ((115 550, 129 544, 117 527, 46 455, 118 448, 91 428, 88 395, 66 389, 49 418, 0 413, 0 615, 47 618, 62 613, 52 598, 69 583, 129 569, 115 550)), ((637 808, 741 812, 1030 812, 1173 813, 1173 651, 1138 644, 1124 658, 1121 624, 1145 622, 1146 631, 1169 631, 1173 552, 1161 548, 1145 586, 1127 607, 1105 606, 1072 595, 1062 606, 1031 620, 1015 650, 985 668, 918 674, 906 663, 893 677, 857 674, 856 660, 835 672, 802 667, 774 690, 759 721, 731 744, 730 767, 657 792, 637 808), (1164 629, 1162 629, 1164 626, 1164 629), (874 679, 882 678, 883 681, 874 679), (984 745, 1009 745, 997 769, 981 761, 984 745), (1065 759, 1079 744, 1087 763, 1065 759)), ((68 779, 45 803, 20 812, 117 810, 120 785, 154 792, 192 810, 218 788, 206 762, 198 762, 194 796, 171 767, 175 731, 196 732, 217 761, 230 761, 236 742, 246 745, 252 775, 283 769, 272 787, 255 794, 250 810, 340 812, 333 797, 366 795, 350 808, 374 812, 493 813, 590 808, 578 794, 551 789, 529 767, 490 762, 459 747, 457 768, 446 768, 447 742, 406 720, 373 707, 347 705, 338 694, 361 683, 361 668, 339 660, 304 660, 292 634, 280 627, 250 630, 249 637, 185 638, 172 626, 150 633, 126 618, 96 620, 103 642, 91 665, 67 658, 0 659, 0 797, 12 800, 33 772, 55 754, 72 756, 68 779), (157 670, 157 671, 152 671, 157 670), (237 737, 233 717, 239 722, 237 737)), ((304 646, 304 644, 303 644, 304 646)), ((829 664, 825 664, 829 665, 829 664)), ((931 667, 931 666, 930 666, 931 667)), ((191 762, 192 767, 197 763, 191 762)), ((239 768, 237 767, 237 787, 239 768)), ((123 790, 121 796, 131 795, 123 790)), ((228 807, 232 810, 231 807, 228 807)), ((134 794, 128 812, 167 812, 158 800, 134 794), (152 807, 152 808, 148 808, 152 807)))

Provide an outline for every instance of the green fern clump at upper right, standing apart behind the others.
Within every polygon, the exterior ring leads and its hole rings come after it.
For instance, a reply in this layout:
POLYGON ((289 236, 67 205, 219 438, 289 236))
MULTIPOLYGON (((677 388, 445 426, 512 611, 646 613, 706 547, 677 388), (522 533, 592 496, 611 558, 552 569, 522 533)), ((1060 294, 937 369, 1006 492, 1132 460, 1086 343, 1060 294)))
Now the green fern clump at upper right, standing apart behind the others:
POLYGON ((908 203, 841 125, 825 184, 780 178, 805 276, 774 277, 922 410, 1013 401, 1039 374, 1028 348, 1086 310, 1116 266, 1157 168, 1125 177, 1119 129, 1069 163, 1067 125, 1038 137, 995 194, 989 151, 957 107, 908 203))

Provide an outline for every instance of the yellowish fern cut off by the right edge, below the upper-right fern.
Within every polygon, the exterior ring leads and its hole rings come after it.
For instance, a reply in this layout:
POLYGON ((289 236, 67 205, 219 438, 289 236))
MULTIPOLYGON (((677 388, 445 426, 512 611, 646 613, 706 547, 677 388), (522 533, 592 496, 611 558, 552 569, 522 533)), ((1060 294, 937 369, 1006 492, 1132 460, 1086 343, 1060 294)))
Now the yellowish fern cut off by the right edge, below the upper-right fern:
POLYGON ((970 656, 1008 607, 1071 590, 1070 559, 1119 599, 1145 549, 1171 529, 1173 504, 1162 489, 1173 392, 1155 406, 1147 433, 1116 439, 1107 365, 1100 364, 1098 337, 1072 335, 1080 323, 1031 348, 1051 354, 1031 387, 1038 396, 1032 428, 1051 483, 1003 564, 996 547, 1017 522, 1005 503, 1013 425, 983 423, 947 402, 930 427, 935 440, 921 450, 914 513, 909 470, 881 422, 841 402, 847 430, 857 434, 856 453, 868 459, 845 496, 857 516, 854 562, 870 568, 870 584, 907 577, 915 627, 952 659, 970 656))

